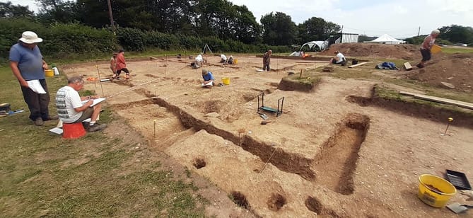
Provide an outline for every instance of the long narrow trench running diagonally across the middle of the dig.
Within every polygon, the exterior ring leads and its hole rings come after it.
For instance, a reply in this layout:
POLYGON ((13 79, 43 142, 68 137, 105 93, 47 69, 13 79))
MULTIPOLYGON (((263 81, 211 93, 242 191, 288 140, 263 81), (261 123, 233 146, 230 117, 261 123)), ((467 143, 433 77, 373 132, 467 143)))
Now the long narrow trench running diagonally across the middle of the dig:
MULTIPOLYGON (((185 110, 180 109, 176 105, 172 105, 167 101, 163 100, 162 98, 158 98, 151 94, 149 91, 139 91, 141 94, 144 94, 148 99, 143 101, 138 101, 137 103, 140 105, 146 104, 156 104, 160 107, 166 108, 171 113, 175 114, 182 126, 185 129, 193 129, 195 132, 199 130, 206 130, 209 134, 215 134, 223 139, 226 139, 233 144, 240 145, 245 151, 250 152, 251 154, 258 156, 263 162, 269 162, 279 168, 281 171, 285 171, 288 173, 296 173, 299 176, 305 178, 306 180, 314 180, 315 179, 315 172, 313 168, 311 168, 311 163, 313 159, 308 159, 300 154, 291 154, 283 149, 277 149, 271 144, 266 144, 264 142, 259 142, 257 139, 249 137, 247 135, 243 135, 243 137, 239 137, 238 133, 235 132, 228 132, 227 130, 221 130, 214 125, 211 125, 204 120, 199 120, 198 118, 194 117, 193 115, 187 113, 185 110), (274 153, 274 154, 273 154, 274 153), (271 154, 273 155, 270 159, 271 154)), ((114 107, 117 108, 124 108, 127 107, 129 103, 122 104, 122 105, 115 105, 114 107)))

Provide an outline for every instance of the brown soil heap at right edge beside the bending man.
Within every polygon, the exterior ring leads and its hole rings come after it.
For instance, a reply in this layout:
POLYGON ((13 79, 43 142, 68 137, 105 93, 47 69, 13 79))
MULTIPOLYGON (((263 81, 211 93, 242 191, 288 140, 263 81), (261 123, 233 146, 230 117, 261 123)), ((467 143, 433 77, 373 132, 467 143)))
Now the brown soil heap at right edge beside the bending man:
POLYGON ((426 67, 416 69, 409 76, 427 84, 444 86, 448 83, 460 91, 472 91, 473 54, 440 54, 426 62, 426 67))

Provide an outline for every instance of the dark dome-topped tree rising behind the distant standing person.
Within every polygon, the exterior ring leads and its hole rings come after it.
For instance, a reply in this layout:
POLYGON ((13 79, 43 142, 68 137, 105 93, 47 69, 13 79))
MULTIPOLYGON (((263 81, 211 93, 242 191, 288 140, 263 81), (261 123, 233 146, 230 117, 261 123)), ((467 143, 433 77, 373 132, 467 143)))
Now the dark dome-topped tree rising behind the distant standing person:
POLYGON ((263 42, 267 45, 291 45, 296 42, 297 28, 286 13, 268 13, 261 18, 263 42))

